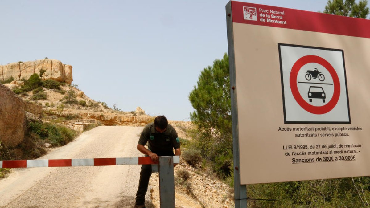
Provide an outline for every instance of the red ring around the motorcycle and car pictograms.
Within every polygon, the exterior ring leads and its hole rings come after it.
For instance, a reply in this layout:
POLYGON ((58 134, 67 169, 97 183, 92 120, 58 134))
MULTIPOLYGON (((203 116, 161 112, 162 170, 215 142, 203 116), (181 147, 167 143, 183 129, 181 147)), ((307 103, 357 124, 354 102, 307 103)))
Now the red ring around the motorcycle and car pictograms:
POLYGON ((294 63, 292 70, 290 71, 290 77, 289 77, 289 83, 290 83, 290 90, 292 90, 293 97, 297 101, 297 103, 305 109, 306 111, 313 113, 313 114, 324 114, 329 111, 331 111, 336 104, 338 103, 339 100, 339 95, 340 95, 340 82, 338 75, 336 71, 334 70, 333 66, 327 62, 325 59, 319 57, 319 56, 314 56, 314 55, 308 55, 308 56, 303 56, 302 58, 299 58, 296 63, 294 63), (300 95, 298 91, 298 86, 297 86, 297 76, 299 70, 306 64, 308 63, 317 63, 320 64, 321 66, 325 67, 327 71, 329 71, 330 76, 333 78, 333 84, 334 84, 334 93, 332 99, 330 101, 323 105, 323 106, 314 106, 309 103, 307 103, 302 95, 300 95))

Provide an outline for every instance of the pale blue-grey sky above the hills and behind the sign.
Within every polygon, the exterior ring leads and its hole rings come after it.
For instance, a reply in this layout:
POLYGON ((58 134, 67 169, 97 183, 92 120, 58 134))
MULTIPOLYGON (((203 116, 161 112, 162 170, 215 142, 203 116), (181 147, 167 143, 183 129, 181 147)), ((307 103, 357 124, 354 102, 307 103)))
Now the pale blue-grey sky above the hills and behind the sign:
MULTIPOLYGON (((327 0, 250 3, 323 11, 327 0)), ((1 0, 0 65, 48 57, 87 96, 189 121, 203 68, 228 51, 227 0, 1 0)))

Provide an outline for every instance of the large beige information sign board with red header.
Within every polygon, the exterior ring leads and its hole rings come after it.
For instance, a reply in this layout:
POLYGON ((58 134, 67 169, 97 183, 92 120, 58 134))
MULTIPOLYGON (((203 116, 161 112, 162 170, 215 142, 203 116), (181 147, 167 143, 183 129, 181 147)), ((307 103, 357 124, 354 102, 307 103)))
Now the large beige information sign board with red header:
POLYGON ((229 17, 240 184, 370 175, 370 20, 238 1, 229 17))

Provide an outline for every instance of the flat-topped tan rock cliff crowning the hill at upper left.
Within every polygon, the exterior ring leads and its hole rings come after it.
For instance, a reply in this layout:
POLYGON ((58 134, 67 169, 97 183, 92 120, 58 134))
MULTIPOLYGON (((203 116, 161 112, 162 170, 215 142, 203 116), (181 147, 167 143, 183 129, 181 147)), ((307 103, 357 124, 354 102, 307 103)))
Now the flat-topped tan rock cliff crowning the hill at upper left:
POLYGON ((73 81, 72 66, 55 59, 16 62, 0 66, 0 81, 10 77, 15 80, 28 79, 34 73, 40 74, 40 70, 46 70, 42 77, 43 80, 52 79, 67 84, 73 81))

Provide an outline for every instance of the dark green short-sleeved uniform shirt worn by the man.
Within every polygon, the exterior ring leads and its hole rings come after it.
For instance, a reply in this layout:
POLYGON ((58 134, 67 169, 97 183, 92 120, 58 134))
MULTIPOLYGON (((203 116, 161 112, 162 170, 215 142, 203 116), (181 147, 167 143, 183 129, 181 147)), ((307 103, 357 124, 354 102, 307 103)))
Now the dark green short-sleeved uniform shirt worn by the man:
POLYGON ((138 144, 145 145, 148 142, 148 148, 155 154, 174 152, 180 148, 180 141, 174 127, 168 124, 166 131, 159 133, 155 131, 154 122, 147 124, 141 132, 138 144))

